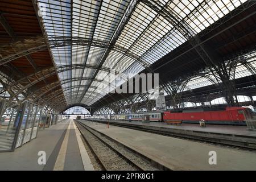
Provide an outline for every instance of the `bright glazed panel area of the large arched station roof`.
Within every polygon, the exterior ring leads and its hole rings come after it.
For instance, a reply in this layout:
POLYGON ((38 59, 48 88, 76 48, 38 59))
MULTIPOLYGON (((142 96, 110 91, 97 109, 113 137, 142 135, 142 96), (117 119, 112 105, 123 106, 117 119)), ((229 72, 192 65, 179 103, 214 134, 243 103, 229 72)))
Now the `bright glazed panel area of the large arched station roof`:
POLYGON ((139 73, 187 41, 151 3, 163 6, 198 34, 244 2, 39 0, 36 5, 43 12, 55 67, 81 65, 58 73, 67 104, 89 106, 107 94, 97 89, 104 84, 100 74, 110 69, 139 73))

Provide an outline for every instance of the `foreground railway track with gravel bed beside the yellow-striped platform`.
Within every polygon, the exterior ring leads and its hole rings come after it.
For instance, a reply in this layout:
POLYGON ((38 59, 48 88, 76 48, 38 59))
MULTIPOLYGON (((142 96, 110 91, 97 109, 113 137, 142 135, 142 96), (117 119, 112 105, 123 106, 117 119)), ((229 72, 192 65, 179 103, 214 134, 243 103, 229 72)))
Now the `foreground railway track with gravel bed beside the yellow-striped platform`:
MULTIPOLYGON (((156 171, 159 170, 149 160, 142 158, 133 150, 123 144, 102 135, 98 131, 86 126, 84 123, 75 121, 82 137, 88 144, 91 152, 97 158, 101 169, 106 171, 156 171)), ((162 169, 167 169, 162 167, 162 169)))

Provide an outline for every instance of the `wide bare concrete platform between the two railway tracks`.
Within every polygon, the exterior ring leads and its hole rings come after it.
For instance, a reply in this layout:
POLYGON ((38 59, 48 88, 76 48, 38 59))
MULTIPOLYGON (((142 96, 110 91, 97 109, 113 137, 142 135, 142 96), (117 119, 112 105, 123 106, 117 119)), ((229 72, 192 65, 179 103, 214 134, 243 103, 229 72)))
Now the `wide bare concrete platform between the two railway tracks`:
POLYGON ((173 170, 256 170, 256 152, 166 137, 125 127, 80 120, 102 134, 173 170), (216 164, 209 164, 209 152, 216 164))

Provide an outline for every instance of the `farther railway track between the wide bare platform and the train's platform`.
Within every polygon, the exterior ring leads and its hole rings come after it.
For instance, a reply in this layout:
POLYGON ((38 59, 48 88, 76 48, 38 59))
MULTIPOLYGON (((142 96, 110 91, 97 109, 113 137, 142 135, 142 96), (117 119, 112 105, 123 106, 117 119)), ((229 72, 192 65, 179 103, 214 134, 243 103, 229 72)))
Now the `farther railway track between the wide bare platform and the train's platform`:
MULTIPOLYGON (((88 120, 88 121, 92 121, 92 120, 88 120)), ((98 121, 98 120, 95 120, 94 122, 107 123, 106 121, 98 121)), ((129 125, 129 124, 125 124, 125 123, 109 122, 109 124, 114 125, 114 126, 126 127, 129 129, 139 130, 139 131, 146 131, 148 133, 160 134, 160 135, 164 135, 164 136, 168 136, 168 137, 193 140, 193 141, 204 142, 204 143, 209 143, 209 144, 217 144, 219 146, 225 146, 225 147, 226 146, 235 147, 235 148, 240 148, 242 150, 251 150, 251 151, 256 150, 255 143, 224 138, 225 137, 224 134, 223 134, 224 137, 222 137, 222 138, 215 138, 215 136, 210 137, 210 134, 208 137, 200 136, 199 135, 200 133, 198 133, 198 135, 196 135, 197 132, 195 132, 195 131, 193 131, 193 135, 191 135, 191 134, 182 134, 182 133, 170 133, 168 131, 160 131, 160 130, 156 130, 156 129, 146 129, 146 128, 143 128, 143 126, 129 125)))

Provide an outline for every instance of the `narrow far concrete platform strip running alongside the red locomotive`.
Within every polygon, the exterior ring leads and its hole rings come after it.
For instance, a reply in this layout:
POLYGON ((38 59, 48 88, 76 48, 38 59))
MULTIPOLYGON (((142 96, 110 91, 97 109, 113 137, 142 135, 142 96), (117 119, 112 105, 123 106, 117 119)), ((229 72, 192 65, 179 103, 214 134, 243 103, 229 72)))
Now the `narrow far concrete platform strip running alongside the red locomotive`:
MULTIPOLYGON (((104 121, 104 120, 101 120, 101 121, 104 121)), ((178 130, 201 131, 201 132, 207 132, 207 133, 242 135, 242 136, 255 137, 255 140, 256 140, 256 131, 247 130, 246 126, 207 125, 207 127, 200 127, 199 124, 196 125, 196 124, 183 123, 182 125, 170 125, 170 124, 164 123, 164 122, 143 123, 141 121, 131 121, 131 122, 129 122, 129 121, 125 121, 125 120, 111 120, 111 122, 126 123, 126 124, 130 124, 130 125, 166 127, 166 128, 178 129, 178 130)))

